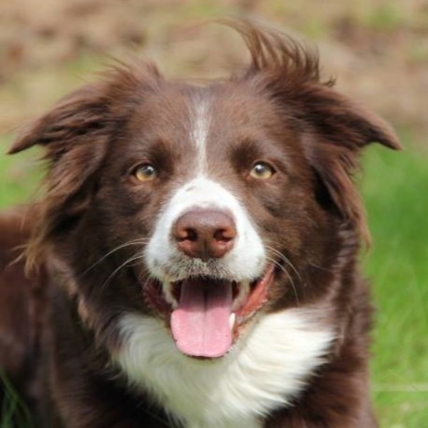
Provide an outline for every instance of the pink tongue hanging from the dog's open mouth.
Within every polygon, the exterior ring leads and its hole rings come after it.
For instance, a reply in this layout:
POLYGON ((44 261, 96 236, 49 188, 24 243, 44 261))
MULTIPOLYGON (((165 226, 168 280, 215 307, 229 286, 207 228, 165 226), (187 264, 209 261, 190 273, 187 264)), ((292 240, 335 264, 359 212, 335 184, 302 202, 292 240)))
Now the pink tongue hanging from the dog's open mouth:
POLYGON ((181 286, 171 329, 178 349, 193 357, 222 357, 232 345, 230 282, 187 280, 181 286))

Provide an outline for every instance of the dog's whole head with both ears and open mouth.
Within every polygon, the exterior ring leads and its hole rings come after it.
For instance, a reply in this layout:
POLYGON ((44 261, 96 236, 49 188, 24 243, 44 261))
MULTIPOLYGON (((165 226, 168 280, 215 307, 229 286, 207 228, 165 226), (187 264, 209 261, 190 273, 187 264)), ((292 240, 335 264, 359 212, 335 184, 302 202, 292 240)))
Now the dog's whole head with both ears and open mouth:
POLYGON ((367 238, 352 174, 361 148, 396 136, 320 81, 302 44, 233 26, 242 73, 194 86, 120 66, 11 148, 49 161, 29 260, 61 260, 100 338, 139 312, 185 355, 222 357, 255 315, 327 295, 345 240, 367 238))

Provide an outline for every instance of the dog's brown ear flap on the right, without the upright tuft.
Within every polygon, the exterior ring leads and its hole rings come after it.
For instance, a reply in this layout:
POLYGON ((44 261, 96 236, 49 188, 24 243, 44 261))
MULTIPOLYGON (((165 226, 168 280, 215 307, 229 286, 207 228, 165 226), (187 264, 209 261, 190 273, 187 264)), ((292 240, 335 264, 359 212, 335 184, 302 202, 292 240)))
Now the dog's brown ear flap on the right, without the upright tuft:
POLYGON ((300 100, 310 131, 303 138, 305 156, 344 218, 370 241, 365 211, 353 183, 360 149, 370 143, 399 150, 392 128, 328 86, 312 86, 300 100))

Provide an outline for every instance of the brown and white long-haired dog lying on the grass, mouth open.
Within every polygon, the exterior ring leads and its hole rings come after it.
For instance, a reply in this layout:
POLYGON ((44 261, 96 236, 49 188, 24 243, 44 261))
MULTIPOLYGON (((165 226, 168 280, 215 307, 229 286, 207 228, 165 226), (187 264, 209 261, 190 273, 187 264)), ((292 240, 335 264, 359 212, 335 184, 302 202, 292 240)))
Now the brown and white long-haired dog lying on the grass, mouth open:
POLYGON ((399 141, 311 48, 229 25, 230 78, 116 66, 11 147, 48 164, 0 220, 0 365, 37 426, 377 427, 353 175, 399 141))

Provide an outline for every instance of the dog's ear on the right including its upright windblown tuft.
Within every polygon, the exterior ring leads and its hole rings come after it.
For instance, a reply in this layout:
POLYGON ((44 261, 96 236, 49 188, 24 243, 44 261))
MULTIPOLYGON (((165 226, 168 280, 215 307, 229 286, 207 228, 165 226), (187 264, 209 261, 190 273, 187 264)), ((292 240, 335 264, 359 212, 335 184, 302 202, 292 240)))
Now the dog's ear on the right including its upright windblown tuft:
MULTIPOLYGON (((360 149, 381 143, 399 149, 398 138, 381 118, 341 96, 332 81, 322 83, 314 49, 290 36, 248 21, 224 21, 237 30, 250 51, 250 66, 240 78, 268 93, 302 135, 307 161, 320 179, 329 207, 359 230, 369 233, 360 196, 352 181, 360 149)), ((325 202, 320 200, 321 203, 325 202)))

